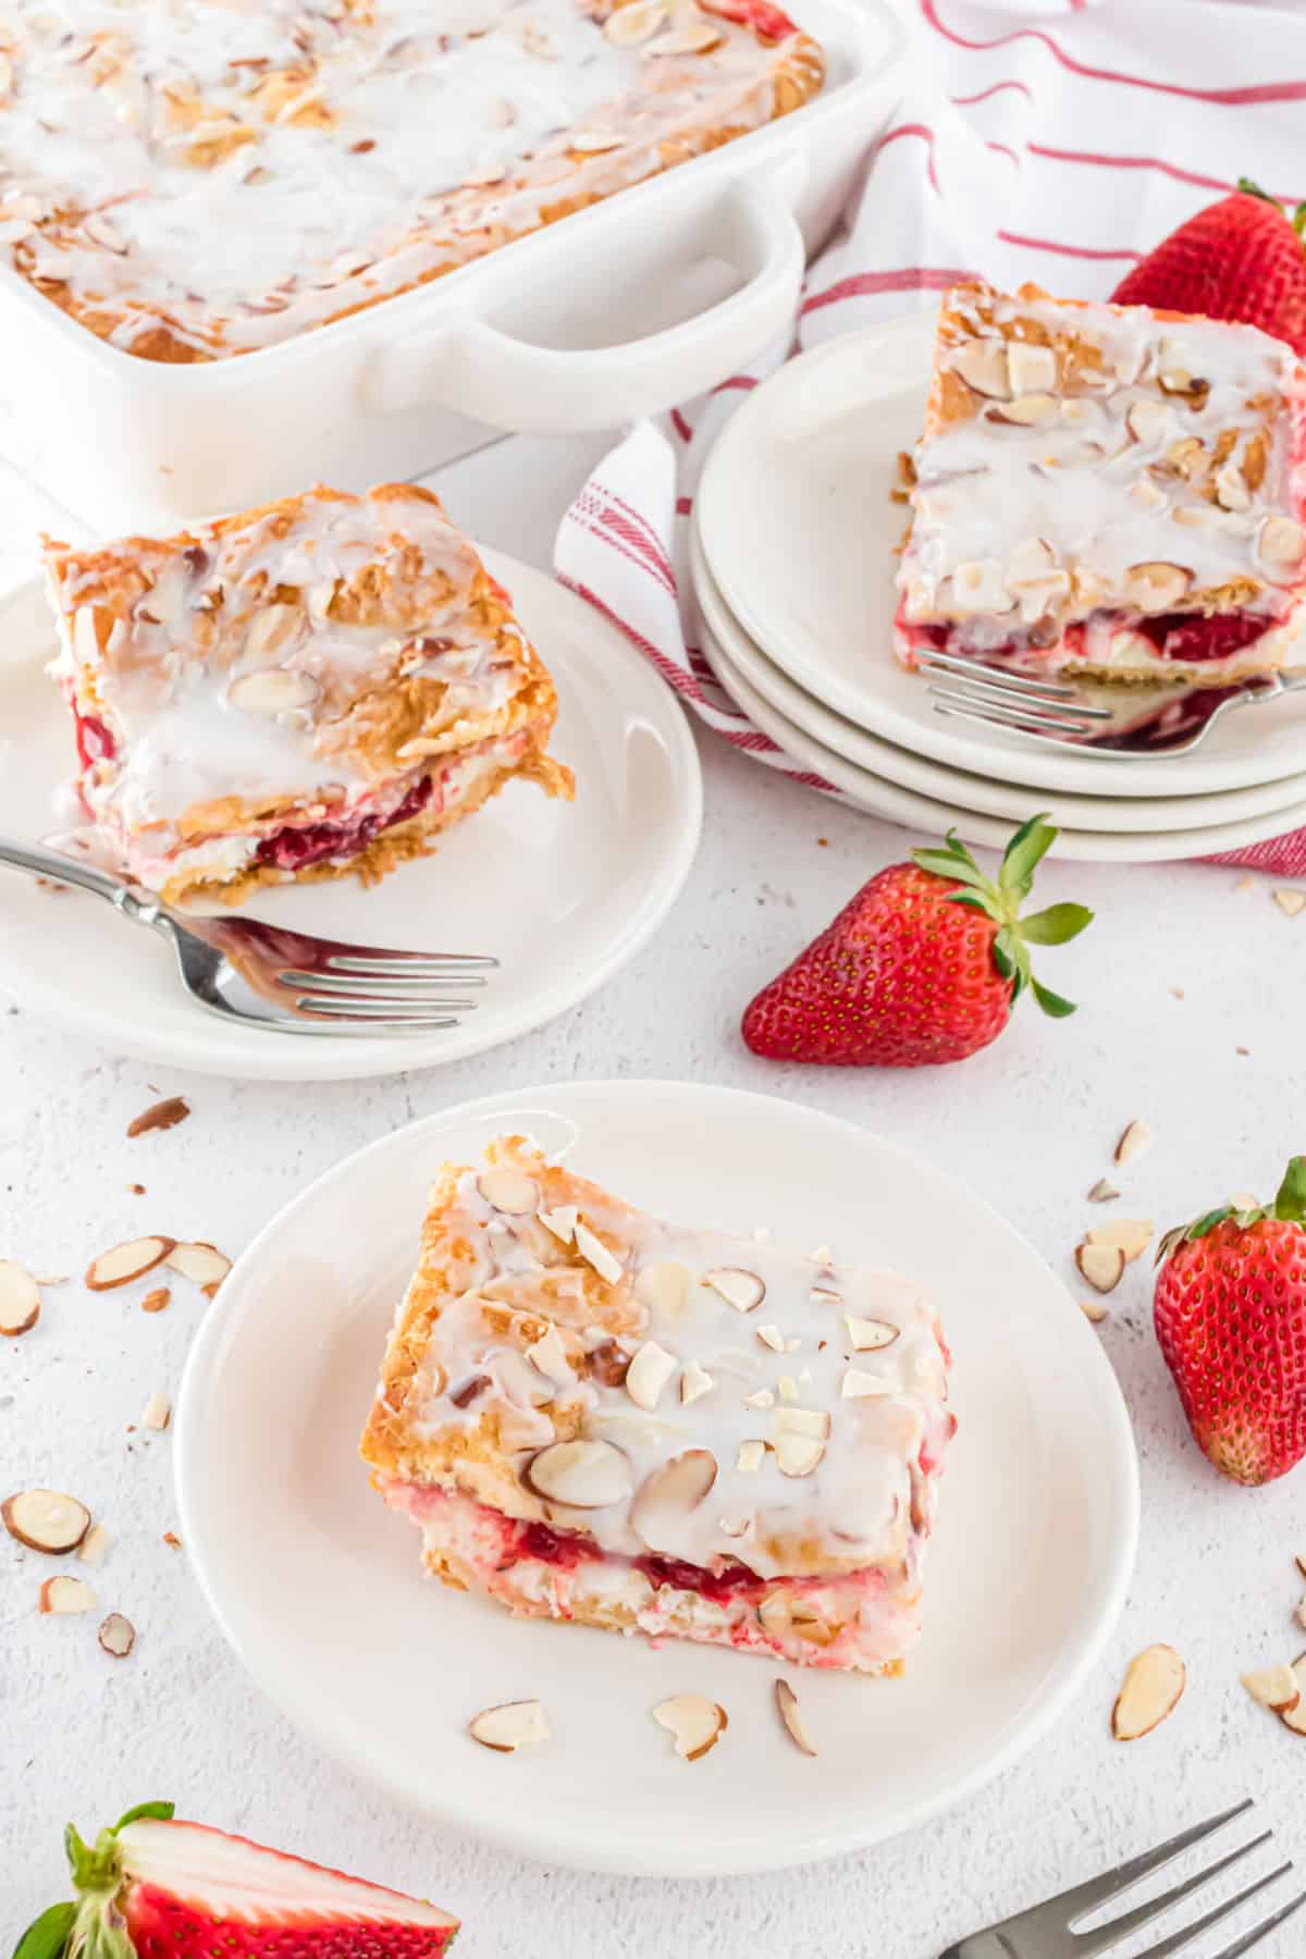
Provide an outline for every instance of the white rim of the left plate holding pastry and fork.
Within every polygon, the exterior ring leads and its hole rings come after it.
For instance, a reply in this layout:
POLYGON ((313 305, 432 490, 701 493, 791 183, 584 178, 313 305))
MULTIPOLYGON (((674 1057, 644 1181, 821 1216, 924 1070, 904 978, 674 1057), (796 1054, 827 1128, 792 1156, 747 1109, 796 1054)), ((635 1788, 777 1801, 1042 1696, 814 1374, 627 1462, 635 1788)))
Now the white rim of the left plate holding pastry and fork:
MULTIPOLYGON (((695 866, 699 844, 703 836, 703 764, 699 758, 699 748, 693 739, 687 715, 670 688, 654 674, 642 654, 627 641, 611 621, 603 619, 595 607, 587 605, 578 594, 570 592, 560 584, 552 572, 540 570, 535 564, 527 564, 523 558, 515 558, 511 552, 497 550, 493 547, 476 547, 490 570, 503 584, 521 588, 527 592, 548 590, 550 601, 560 601, 564 609, 574 605, 582 607, 583 617, 593 627, 595 633, 609 639, 613 658, 625 660, 625 672, 630 684, 640 690, 638 705, 648 713, 648 719, 656 723, 658 733, 666 744, 672 776, 681 795, 676 801, 676 825, 674 833, 668 827, 668 838, 664 848, 664 862, 658 876, 656 887, 644 885, 638 891, 638 907, 632 909, 617 932, 615 942, 609 944, 605 958, 597 962, 583 978, 578 978, 570 985, 558 985, 546 1001, 523 1001, 521 1009, 505 1019, 497 1030, 491 1032, 488 1040, 476 1036, 476 1023, 468 1023, 462 1032, 454 1030, 452 1036, 413 1036, 413 1038, 362 1038, 362 1036, 339 1036, 319 1034, 313 1038, 296 1034, 276 1034, 251 1030, 231 1032, 223 1027, 217 1015, 206 1013, 196 1005, 194 1009, 194 1028, 188 1032, 164 1030, 155 1034, 149 1021, 127 1021, 123 1023, 114 1007, 114 997, 110 995, 106 1005, 94 1005, 84 1001, 69 1001, 61 993, 43 987, 41 983, 27 985, 22 976, 12 976, 8 972, 0 974, 4 989, 37 1019, 51 1027, 63 1027, 82 1040, 92 1040, 96 1046, 110 1048, 114 1054, 131 1056, 135 1060, 153 1062, 164 1068, 188 1068, 200 1075, 223 1075, 235 1081, 264 1079, 264 1081, 362 1081, 380 1079, 396 1074, 411 1074, 423 1068, 443 1068, 446 1064, 466 1062, 474 1056, 488 1054, 495 1048, 505 1046, 509 1040, 519 1040, 523 1034, 533 1032, 546 1021, 558 1019, 562 1013, 570 1013, 580 1007, 591 993, 601 985, 607 985, 652 938, 656 931, 664 925, 668 913, 676 905, 677 897, 685 889, 689 874, 695 866), (227 1040, 235 1048, 237 1042, 245 1044, 257 1040, 257 1052, 241 1054, 227 1052, 227 1040)), ((0 615, 8 605, 18 605, 25 596, 35 597, 39 592, 39 574, 33 578, 20 578, 0 592, 0 615)), ((527 599, 527 605, 531 601, 527 599)), ((25 660, 6 662, 12 668, 25 666, 25 660)), ((546 662, 548 664, 548 662, 546 662)), ((0 866, 4 870, 4 866, 0 866)), ((16 874, 22 876, 22 874, 16 874)), ((108 929, 108 927, 106 927, 108 929)), ((123 927, 125 929, 125 927, 123 927)), ((180 981, 176 981, 180 985, 180 981)))

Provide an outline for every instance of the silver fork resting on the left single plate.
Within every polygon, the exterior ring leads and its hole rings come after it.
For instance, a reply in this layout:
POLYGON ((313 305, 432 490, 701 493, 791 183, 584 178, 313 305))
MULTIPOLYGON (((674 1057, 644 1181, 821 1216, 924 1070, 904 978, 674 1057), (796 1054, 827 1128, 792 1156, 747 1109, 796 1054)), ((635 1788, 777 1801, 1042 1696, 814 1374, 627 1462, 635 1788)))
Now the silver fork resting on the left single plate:
POLYGON ((292 932, 258 919, 172 911, 94 864, 0 838, 0 864, 78 885, 133 925, 149 925, 176 954, 182 985, 210 1013, 284 1034, 431 1034, 474 1013, 460 991, 486 985, 499 962, 480 952, 392 952, 292 932))

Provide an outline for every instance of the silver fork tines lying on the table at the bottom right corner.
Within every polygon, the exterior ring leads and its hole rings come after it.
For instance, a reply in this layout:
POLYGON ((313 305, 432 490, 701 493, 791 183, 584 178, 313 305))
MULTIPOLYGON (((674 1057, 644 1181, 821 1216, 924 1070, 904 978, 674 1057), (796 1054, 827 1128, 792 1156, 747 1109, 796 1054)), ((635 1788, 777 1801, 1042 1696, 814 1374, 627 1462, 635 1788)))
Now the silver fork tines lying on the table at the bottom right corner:
MULTIPOLYGON (((1175 1857, 1183 1855, 1192 1843, 1200 1843, 1214 1830, 1222 1830, 1226 1824, 1234 1822, 1236 1816, 1243 1816, 1251 1808, 1251 1798, 1234 1804, 1232 1810, 1224 1810, 1222 1816, 1212 1816, 1210 1822, 1194 1824, 1192 1830, 1181 1830, 1177 1838, 1169 1843, 1157 1845, 1157 1849, 1143 1851, 1142 1857, 1132 1857, 1128 1863, 1116 1865, 1106 1877, 1091 1879, 1087 1885, 1075 1885, 1071 1890, 1063 1890, 1059 1898, 1048 1898, 1046 1904, 1036 1904, 1028 1912, 1020 1912, 1016 1918, 1004 1918, 1001 1926, 989 1926, 987 1932, 977 1932, 969 1939, 961 1939, 959 1945, 950 1945, 940 1959, 1096 1959, 1098 1953, 1110 1951, 1122 1939, 1130 1937, 1134 1932, 1142 1932, 1149 1926, 1153 1918, 1169 1912, 1183 1898, 1210 1885, 1214 1877, 1228 1871, 1230 1865, 1237 1863, 1239 1857, 1249 1855, 1249 1851, 1259 1849, 1269 1843, 1273 1832, 1263 1830, 1261 1836, 1251 1838, 1249 1843, 1241 1843, 1237 1849, 1228 1851, 1216 1863, 1208 1863, 1202 1871, 1175 1885, 1171 1890, 1163 1890, 1159 1898, 1147 1898, 1145 1904, 1136 1906, 1132 1912, 1124 1912, 1120 1918, 1108 1920, 1104 1926, 1095 1926, 1091 1932, 1077 1932, 1075 1924, 1081 1918, 1089 1918, 1093 1912, 1100 1910, 1104 1904, 1114 1904, 1126 1890, 1142 1879, 1151 1877, 1155 1871, 1163 1871, 1175 1857)), ((1281 1863, 1277 1871, 1267 1877, 1259 1877, 1253 1885, 1245 1885, 1243 1890, 1234 1898, 1226 1898, 1214 1910, 1206 1912, 1204 1918, 1194 1920, 1179 1932, 1169 1934, 1157 1945, 1149 1945, 1145 1951, 1134 1955, 1134 1959, 1169 1959, 1171 1953, 1187 1951, 1194 1939, 1208 1932, 1210 1926, 1220 1924, 1230 1912, 1236 1912, 1239 1904, 1253 1898, 1257 1890, 1265 1890, 1267 1885, 1275 1885, 1292 1869, 1292 1861, 1281 1863)), ((1208 1959, 1239 1959, 1239 1953, 1249 1953, 1253 1945, 1259 1945, 1263 1937, 1275 1932, 1292 1912, 1298 1912, 1306 1904, 1306 1890, 1296 1898, 1288 1898, 1281 1904, 1277 1912, 1269 1918, 1261 1918, 1249 1932, 1239 1934, 1232 1945, 1222 1945, 1220 1951, 1208 1953, 1208 1959)))

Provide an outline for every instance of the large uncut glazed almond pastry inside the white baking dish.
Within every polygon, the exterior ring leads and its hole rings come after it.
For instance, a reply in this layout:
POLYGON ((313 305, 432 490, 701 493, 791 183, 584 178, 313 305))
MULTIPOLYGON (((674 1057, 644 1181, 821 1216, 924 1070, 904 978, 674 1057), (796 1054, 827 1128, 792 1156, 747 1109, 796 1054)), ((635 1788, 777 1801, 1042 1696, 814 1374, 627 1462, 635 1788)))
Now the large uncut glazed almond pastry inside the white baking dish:
POLYGON ((12 0, 0 264, 127 353, 249 353, 744 135, 820 78, 770 0, 12 0))

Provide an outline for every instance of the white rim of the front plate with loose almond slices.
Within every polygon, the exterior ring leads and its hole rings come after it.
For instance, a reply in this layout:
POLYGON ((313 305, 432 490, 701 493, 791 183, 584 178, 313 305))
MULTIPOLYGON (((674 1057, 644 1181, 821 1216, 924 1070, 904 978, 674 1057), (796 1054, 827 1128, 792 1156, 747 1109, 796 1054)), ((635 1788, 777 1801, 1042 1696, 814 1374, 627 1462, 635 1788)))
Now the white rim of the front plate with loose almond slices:
MULTIPOLYGON (((321 1749, 327 1759, 341 1763, 349 1773, 358 1775, 368 1787, 386 1791, 397 1802, 403 1802, 415 1814, 427 1814, 443 1822, 452 1822, 460 1830, 499 1845, 521 1857, 531 1857, 535 1861, 558 1863, 568 1869, 597 1871, 607 1875, 625 1877, 742 1877, 758 1871, 793 1869, 799 1865, 820 1863, 830 1857, 846 1855, 852 1851, 869 1849, 873 1843, 887 1841, 895 1836, 903 1836, 909 1830, 918 1830, 922 1824, 930 1822, 961 1802, 969 1800, 977 1791, 987 1787, 997 1775, 1010 1769, 1026 1753, 1030 1753, 1046 1734, 1055 1726, 1065 1708, 1083 1691, 1089 1673, 1096 1667, 1102 1657, 1106 1644, 1110 1642, 1124 1604, 1128 1601, 1130 1583, 1134 1577, 1134 1567, 1138 1561, 1140 1548, 1140 1528, 1142 1528, 1142 1479, 1138 1461, 1138 1442, 1134 1436, 1134 1424, 1130 1418, 1128 1403, 1124 1399, 1124 1389, 1120 1379, 1110 1365, 1100 1340, 1093 1336, 1093 1330, 1077 1313, 1075 1303, 1067 1285, 1057 1277, 1053 1267, 1048 1264, 1038 1246, 1024 1236, 1008 1218, 971 1189, 961 1177, 948 1170, 938 1170, 916 1150, 897 1142, 891 1136, 883 1136, 879 1130, 865 1128, 862 1123, 854 1123, 848 1117, 830 1115, 813 1103, 797 1101, 785 1095, 770 1095, 756 1089, 738 1089, 726 1083, 715 1081, 683 1081, 674 1077, 648 1077, 638 1081, 629 1081, 623 1077, 593 1077, 585 1081, 562 1081, 562 1083, 542 1083, 529 1085, 521 1089, 501 1089, 493 1095, 470 1097, 456 1103, 452 1109, 441 1109, 433 1115, 419 1117, 413 1123, 403 1124, 397 1130, 390 1130, 384 1136, 376 1136, 372 1142, 362 1144, 352 1150, 339 1164, 333 1164, 321 1175, 313 1177, 303 1189, 300 1189, 286 1205, 282 1205, 272 1218, 257 1232, 251 1244, 241 1252, 231 1267, 231 1273, 223 1281, 223 1291, 239 1285, 243 1277, 258 1264, 264 1256, 264 1248, 270 1246, 274 1234, 309 1203, 317 1201, 323 1191, 329 1191, 337 1183, 347 1183, 350 1175, 356 1173, 362 1162, 376 1156, 384 1156, 390 1150, 411 1148, 419 1136, 435 1136, 441 1130, 452 1128, 466 1121, 478 1121, 491 1115, 507 1115, 511 1111, 527 1113, 533 1105, 540 1113, 548 1107, 550 1099, 560 1101, 562 1107, 556 1111, 566 1117, 566 1103, 574 1097, 629 1097, 630 1091, 652 1093, 658 1097, 683 1095, 707 1095, 715 1101, 728 1101, 734 1105, 748 1107, 752 1103, 768 1103, 779 1111, 801 1111, 807 1119, 816 1119, 820 1124, 850 1130, 862 1142, 869 1142, 877 1150, 897 1156, 912 1171, 928 1168, 930 1175, 938 1179, 946 1189, 954 1193, 963 1193, 965 1199, 985 1213, 987 1220, 995 1230, 1004 1232, 1014 1238, 1022 1252, 1038 1262, 1038 1266, 1048 1273, 1049 1281, 1065 1297, 1067 1324, 1065 1332, 1071 1342, 1079 1342, 1081 1363, 1077 1373, 1089 1375, 1095 1383, 1095 1403, 1106 1422, 1102 1428, 1102 1440, 1106 1448, 1102 1452, 1104 1461, 1110 1465, 1110 1477, 1116 1483, 1116 1508, 1122 1512, 1118 1522, 1122 1524, 1120 1534, 1112 1540, 1116 1544, 1116 1555, 1106 1583, 1100 1589, 1096 1602, 1085 1614, 1085 1632, 1081 1646, 1071 1663, 1061 1671, 1061 1675, 1046 1687, 1038 1704, 1030 1706, 1026 1720, 1014 1724, 995 1751, 977 1761, 969 1773, 961 1775, 956 1783, 948 1785, 934 1794, 918 1798, 914 1804, 907 1804, 899 1814, 885 1818, 879 1824, 867 1828, 856 1822, 844 1824, 840 1828, 824 1826, 818 1840, 801 1840, 791 1851, 777 1851, 771 1843, 766 1851, 758 1847, 756 1853, 736 1855, 730 1853, 724 1861, 715 1859, 711 1849, 705 1853, 689 1855, 623 1855, 611 1847, 617 1841, 617 1834, 605 1840, 605 1843, 595 1843, 587 1840, 578 1845, 564 1828, 552 1828, 542 1822, 527 1824, 523 1830, 515 1818, 503 1816, 501 1810, 493 1814, 478 1814, 470 1820, 466 1810, 458 1808, 454 1794, 444 1794, 439 1787, 427 1789, 417 1794, 411 1787, 401 1781, 390 1779, 384 1771, 382 1759, 368 1757, 362 1749, 339 1740, 331 1734, 329 1718, 323 1716, 321 1696, 302 1693, 290 1677, 282 1677, 278 1669, 268 1663, 258 1653, 251 1651, 247 1640, 241 1638, 233 1626, 229 1614, 223 1608, 219 1593, 213 1589, 213 1577, 208 1565, 208 1546, 204 1526, 200 1522, 202 1514, 202 1489, 204 1489, 204 1436, 202 1436, 202 1416, 198 1414, 206 1383, 210 1379, 213 1358, 221 1346, 227 1314, 221 1307, 213 1307, 206 1313, 200 1328, 190 1344, 186 1356, 186 1367, 176 1395, 174 1412, 174 1454, 172 1454, 172 1483, 176 1491, 178 1522, 182 1536, 190 1548, 190 1567, 200 1587, 200 1595, 221 1632, 223 1640, 231 1648, 233 1655, 245 1667, 249 1677, 255 1681, 258 1691, 270 1700, 278 1712, 290 1720, 307 1740, 321 1749)), ((231 1295, 227 1297, 227 1303, 231 1295)))

